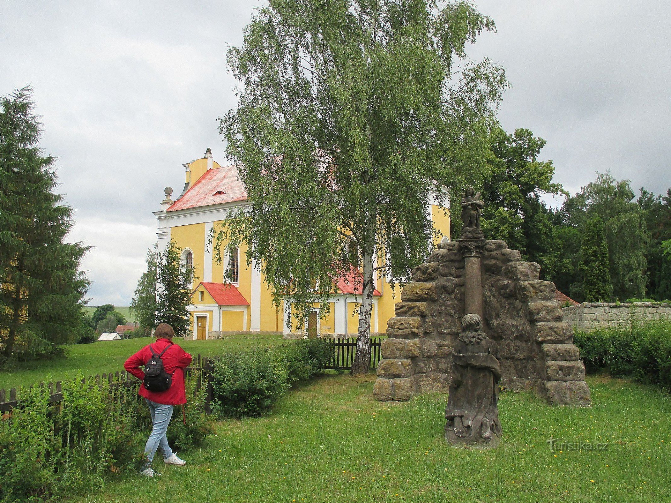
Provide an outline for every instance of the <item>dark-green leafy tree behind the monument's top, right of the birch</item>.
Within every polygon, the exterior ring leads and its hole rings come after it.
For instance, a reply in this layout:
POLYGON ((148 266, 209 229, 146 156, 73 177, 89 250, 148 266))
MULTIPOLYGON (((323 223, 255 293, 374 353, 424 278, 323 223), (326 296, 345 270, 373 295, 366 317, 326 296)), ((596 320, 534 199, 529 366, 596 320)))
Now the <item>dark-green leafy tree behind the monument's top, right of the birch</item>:
POLYGON ((541 266, 543 278, 554 278, 559 260, 552 213, 541 201, 544 194, 562 194, 554 183, 552 161, 539 161, 546 141, 529 129, 512 135, 492 132, 493 157, 482 184, 482 231, 487 239, 503 239, 523 257, 541 266))

